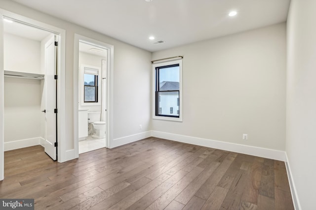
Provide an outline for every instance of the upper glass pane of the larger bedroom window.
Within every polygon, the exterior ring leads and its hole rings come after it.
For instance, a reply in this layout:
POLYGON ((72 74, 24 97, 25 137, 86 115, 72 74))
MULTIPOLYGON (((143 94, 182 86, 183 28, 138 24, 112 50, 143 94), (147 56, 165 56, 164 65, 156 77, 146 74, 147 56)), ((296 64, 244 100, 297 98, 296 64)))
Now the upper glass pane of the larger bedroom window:
POLYGON ((159 68, 159 90, 179 90, 179 65, 159 68))

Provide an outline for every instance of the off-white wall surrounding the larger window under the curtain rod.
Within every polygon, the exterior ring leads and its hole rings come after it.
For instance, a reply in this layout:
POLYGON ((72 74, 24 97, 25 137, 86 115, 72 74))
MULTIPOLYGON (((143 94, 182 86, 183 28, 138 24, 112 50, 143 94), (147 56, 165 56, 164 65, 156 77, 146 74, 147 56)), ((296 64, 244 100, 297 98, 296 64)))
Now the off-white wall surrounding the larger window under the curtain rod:
POLYGON ((152 129, 284 151, 285 37, 282 23, 153 53, 184 59, 183 122, 152 129))

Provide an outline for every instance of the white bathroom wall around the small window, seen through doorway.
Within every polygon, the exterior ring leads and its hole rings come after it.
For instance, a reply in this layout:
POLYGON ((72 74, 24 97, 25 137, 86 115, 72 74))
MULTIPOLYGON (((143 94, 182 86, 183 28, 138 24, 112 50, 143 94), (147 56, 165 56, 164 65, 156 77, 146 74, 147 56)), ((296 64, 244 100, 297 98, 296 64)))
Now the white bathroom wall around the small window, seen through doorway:
POLYGON ((82 104, 81 100, 82 100, 82 96, 83 93, 81 92, 81 87, 80 85, 82 85, 81 83, 81 78, 83 76, 82 74, 82 65, 90 65, 90 66, 96 66, 100 68, 100 73, 102 72, 102 59, 106 59, 104 57, 101 56, 96 56, 96 55, 92 55, 89 53, 84 53, 84 52, 79 52, 79 109, 88 109, 88 112, 101 112, 101 94, 102 94, 102 75, 99 75, 99 102, 100 105, 90 105, 89 103, 86 104, 82 104))

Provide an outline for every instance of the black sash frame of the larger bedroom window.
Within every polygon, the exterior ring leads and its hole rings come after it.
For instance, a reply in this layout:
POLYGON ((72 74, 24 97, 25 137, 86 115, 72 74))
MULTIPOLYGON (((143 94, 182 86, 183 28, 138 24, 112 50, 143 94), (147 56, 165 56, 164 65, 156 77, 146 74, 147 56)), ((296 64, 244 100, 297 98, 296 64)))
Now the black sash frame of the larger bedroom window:
MULTIPOLYGON (((156 90, 155 90, 155 94, 156 94, 155 115, 156 116, 159 116, 159 117, 170 117, 170 118, 180 118, 180 114, 178 114, 178 116, 176 116, 176 115, 162 115, 162 114, 159 114, 159 113, 161 113, 161 111, 159 112, 159 109, 161 110, 161 108, 159 108, 159 102, 160 102, 159 93, 160 92, 178 92, 178 95, 180 97, 180 88, 179 88, 179 90, 159 90, 159 84, 160 84, 160 81, 159 81, 159 69, 170 68, 170 67, 175 67, 175 66, 178 66, 180 68, 180 64, 179 63, 171 64, 171 65, 158 66, 158 67, 155 68, 156 69, 156 72, 155 72, 156 73, 156 90)), ((180 77, 180 75, 179 75, 179 77, 180 77)), ((180 103, 179 103, 179 109, 180 109, 180 103)), ((170 114, 173 114, 173 113, 170 113, 170 114)))

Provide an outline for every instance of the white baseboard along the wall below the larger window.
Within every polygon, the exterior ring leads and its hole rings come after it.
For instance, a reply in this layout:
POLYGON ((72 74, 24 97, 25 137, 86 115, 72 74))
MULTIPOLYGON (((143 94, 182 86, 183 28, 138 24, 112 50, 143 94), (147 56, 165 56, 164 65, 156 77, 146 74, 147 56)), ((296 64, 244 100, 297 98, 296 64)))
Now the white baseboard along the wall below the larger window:
POLYGON ((281 150, 271 150, 266 148, 252 147, 247 145, 239 145, 229 142, 221 142, 210 139, 202 139, 192 136, 183 136, 173 133, 165 133, 160 131, 152 131, 152 136, 162 139, 168 139, 177 142, 183 142, 193 145, 199 145, 203 147, 210 147, 220 150, 234 151, 243 154, 254 155, 258 157, 265 157, 280 161, 285 161, 285 151, 281 150))

